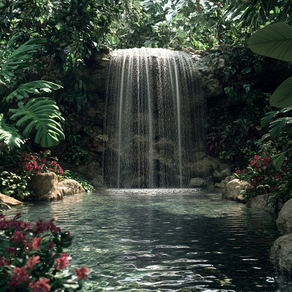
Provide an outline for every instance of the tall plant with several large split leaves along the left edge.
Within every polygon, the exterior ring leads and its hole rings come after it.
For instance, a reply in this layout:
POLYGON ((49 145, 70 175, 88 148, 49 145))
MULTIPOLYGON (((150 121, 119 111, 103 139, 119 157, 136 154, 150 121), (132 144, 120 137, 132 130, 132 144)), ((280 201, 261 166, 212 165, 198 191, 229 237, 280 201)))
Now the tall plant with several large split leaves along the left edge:
POLYGON ((20 120, 16 126, 23 126, 25 130, 23 136, 28 137, 33 127, 36 127, 35 142, 40 143, 44 147, 58 145, 59 139, 65 139, 62 127, 58 124, 63 118, 60 116, 55 101, 48 98, 29 98, 28 93, 41 94, 43 92, 51 92, 51 89, 60 88, 59 85, 48 81, 32 81, 24 84, 17 84, 17 80, 23 70, 29 66, 32 54, 41 48, 39 43, 43 43, 45 39, 30 39, 18 48, 15 48, 15 42, 18 35, 13 36, 7 46, 0 47, 0 81, 8 90, 1 91, 0 96, 0 141, 3 141, 10 147, 20 148, 24 144, 22 135, 15 128, 15 124, 8 123, 10 112, 14 114, 10 117, 10 121, 20 120), (16 87, 17 86, 17 87, 16 87), (17 100, 18 109, 13 109, 17 100), (27 101, 28 99, 28 101, 27 101), (24 105, 24 103, 26 105, 24 105), (12 107, 12 109, 11 109, 12 107), (57 120, 57 122, 55 121, 57 120), (28 124, 26 122, 29 122, 28 124))

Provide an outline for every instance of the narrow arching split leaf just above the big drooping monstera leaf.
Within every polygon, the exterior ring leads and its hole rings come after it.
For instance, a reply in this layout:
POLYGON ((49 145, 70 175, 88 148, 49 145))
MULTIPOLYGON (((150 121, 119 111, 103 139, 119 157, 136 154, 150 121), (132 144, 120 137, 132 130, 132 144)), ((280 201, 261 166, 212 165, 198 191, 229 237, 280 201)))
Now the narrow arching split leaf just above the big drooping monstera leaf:
POLYGON ((41 93, 36 88, 41 88, 43 91, 46 91, 46 92, 52 92, 50 88, 59 89, 59 88, 62 88, 62 86, 49 82, 49 81, 43 81, 43 80, 24 83, 18 86, 18 88, 16 88, 12 93, 10 93, 6 97, 6 101, 8 102, 14 97, 19 98, 19 99, 22 99, 24 97, 28 98, 29 95, 27 93, 34 93, 34 94, 41 95, 41 93))

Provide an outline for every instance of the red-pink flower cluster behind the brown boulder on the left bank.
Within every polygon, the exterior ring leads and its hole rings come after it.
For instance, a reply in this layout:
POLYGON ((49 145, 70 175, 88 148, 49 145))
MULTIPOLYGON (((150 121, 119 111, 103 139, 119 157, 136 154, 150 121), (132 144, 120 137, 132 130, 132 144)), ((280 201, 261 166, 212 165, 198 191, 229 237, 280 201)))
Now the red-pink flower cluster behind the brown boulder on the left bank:
MULTIPOLYGON (((63 170, 56 161, 51 161, 48 159, 49 155, 47 151, 40 151, 39 154, 36 153, 20 153, 20 164, 24 171, 28 171, 32 174, 40 174, 47 171, 52 171, 56 174, 62 175, 63 170)), ((52 157, 51 157, 52 159, 52 157)), ((55 157, 54 159, 57 159, 55 157)))

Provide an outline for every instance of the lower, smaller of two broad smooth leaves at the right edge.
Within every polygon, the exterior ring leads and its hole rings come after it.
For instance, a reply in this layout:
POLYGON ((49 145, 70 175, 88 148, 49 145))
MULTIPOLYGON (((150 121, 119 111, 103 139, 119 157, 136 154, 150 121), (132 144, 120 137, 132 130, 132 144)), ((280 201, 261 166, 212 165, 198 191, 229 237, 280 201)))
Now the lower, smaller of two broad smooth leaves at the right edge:
POLYGON ((290 107, 292 105, 292 77, 281 83, 270 98, 274 107, 290 107))

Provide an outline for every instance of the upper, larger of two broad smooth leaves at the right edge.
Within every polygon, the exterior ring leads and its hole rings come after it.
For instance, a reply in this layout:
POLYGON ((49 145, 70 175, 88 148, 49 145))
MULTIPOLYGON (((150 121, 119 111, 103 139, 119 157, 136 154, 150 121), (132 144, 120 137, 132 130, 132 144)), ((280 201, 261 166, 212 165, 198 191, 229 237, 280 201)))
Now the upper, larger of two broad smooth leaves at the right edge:
POLYGON ((292 27, 286 22, 276 22, 259 29, 247 43, 256 54, 292 61, 292 27))

